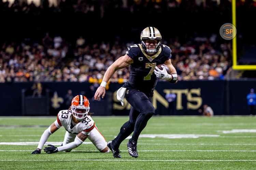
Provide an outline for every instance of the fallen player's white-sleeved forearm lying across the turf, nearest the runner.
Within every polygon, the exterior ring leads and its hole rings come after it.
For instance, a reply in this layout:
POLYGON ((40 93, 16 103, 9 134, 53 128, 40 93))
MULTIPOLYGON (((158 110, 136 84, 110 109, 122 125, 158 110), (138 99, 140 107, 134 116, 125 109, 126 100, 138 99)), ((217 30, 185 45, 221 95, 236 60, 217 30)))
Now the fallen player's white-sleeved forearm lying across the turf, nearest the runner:
POLYGON ((73 142, 68 143, 67 145, 63 145, 60 147, 55 147, 53 145, 48 145, 49 147, 44 148, 44 152, 46 153, 56 153, 60 151, 65 151, 69 149, 74 149, 79 147, 83 141, 88 137, 87 134, 84 134, 83 132, 80 132, 79 134, 76 135, 75 140, 73 142))

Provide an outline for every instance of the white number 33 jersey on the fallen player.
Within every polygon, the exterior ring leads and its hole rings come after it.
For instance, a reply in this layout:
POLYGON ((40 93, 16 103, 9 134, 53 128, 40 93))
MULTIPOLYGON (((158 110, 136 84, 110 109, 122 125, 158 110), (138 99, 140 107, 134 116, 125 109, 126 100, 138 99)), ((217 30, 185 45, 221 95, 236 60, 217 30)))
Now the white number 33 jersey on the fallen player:
POLYGON ((89 135, 90 131, 95 127, 95 122, 89 115, 86 115, 86 117, 77 124, 73 122, 72 118, 73 116, 70 111, 59 111, 57 120, 54 123, 58 128, 63 126, 66 131, 76 135, 80 132, 85 135, 89 135))

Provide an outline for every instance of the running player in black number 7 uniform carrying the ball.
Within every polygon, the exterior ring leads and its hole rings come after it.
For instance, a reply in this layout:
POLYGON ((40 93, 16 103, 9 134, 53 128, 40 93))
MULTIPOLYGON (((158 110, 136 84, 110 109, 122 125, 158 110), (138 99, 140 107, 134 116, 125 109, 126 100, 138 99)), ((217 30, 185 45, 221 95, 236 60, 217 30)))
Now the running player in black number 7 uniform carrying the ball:
POLYGON ((121 127, 117 137, 108 142, 108 147, 115 158, 121 158, 119 154, 120 143, 132 132, 132 138, 127 147, 132 157, 138 157, 137 141, 141 131, 145 128, 147 121, 154 115, 155 108, 152 105, 153 90, 158 78, 166 79, 170 83, 178 80, 177 72, 171 63, 171 49, 161 44, 161 34, 154 27, 147 27, 141 32, 141 44, 127 47, 126 54, 118 58, 106 70, 102 83, 94 95, 95 100, 105 96, 105 87, 116 70, 130 65, 130 77, 123 87, 117 91, 117 99, 123 105, 124 97, 130 103, 130 118, 121 127), (167 73, 165 67, 162 70, 156 66, 165 64, 170 69, 167 73), (154 74, 153 74, 154 73, 154 74))

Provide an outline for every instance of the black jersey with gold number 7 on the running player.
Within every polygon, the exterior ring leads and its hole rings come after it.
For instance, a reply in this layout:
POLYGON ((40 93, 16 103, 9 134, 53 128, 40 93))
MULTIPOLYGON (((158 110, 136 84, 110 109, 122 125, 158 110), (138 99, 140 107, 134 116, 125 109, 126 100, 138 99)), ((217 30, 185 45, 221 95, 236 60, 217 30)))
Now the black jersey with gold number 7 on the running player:
POLYGON ((126 54, 133 59, 130 65, 130 77, 123 87, 134 88, 144 92, 147 96, 153 96, 158 78, 154 69, 159 64, 171 58, 171 49, 166 45, 160 45, 158 52, 149 56, 142 49, 141 44, 134 44, 127 47, 126 54))

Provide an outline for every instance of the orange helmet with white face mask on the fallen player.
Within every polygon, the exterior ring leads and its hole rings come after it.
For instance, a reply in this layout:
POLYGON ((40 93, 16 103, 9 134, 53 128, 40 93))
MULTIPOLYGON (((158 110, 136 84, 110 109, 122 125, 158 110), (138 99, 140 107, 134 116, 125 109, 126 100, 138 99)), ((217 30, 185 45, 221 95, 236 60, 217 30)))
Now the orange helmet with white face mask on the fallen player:
POLYGON ((90 110, 89 100, 83 95, 77 95, 72 99, 71 102, 72 115, 77 120, 82 120, 88 114, 90 110))

